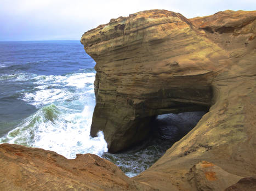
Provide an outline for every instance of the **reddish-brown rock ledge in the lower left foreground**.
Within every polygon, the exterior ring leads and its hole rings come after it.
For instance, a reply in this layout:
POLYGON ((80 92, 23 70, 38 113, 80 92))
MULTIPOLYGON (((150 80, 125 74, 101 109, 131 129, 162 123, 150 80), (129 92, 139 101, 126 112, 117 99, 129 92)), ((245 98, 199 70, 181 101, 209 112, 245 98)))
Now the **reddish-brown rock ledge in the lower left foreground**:
MULTIPOLYGON (((0 190, 150 190, 95 154, 76 159, 40 148, 0 145, 0 190)), ((153 190, 153 189, 151 189, 153 190)))

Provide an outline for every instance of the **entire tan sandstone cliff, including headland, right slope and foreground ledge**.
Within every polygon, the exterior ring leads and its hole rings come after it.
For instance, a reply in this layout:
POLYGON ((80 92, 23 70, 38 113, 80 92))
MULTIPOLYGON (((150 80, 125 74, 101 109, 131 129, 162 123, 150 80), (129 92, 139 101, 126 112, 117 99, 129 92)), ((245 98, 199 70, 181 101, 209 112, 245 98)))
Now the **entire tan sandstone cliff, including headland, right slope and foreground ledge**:
POLYGON ((145 139, 160 114, 206 110, 142 174, 128 178, 93 154, 66 159, 0 145, 0 190, 232 190, 256 174, 256 11, 186 19, 166 10, 112 19, 84 33, 96 61, 91 134, 111 152, 145 139))

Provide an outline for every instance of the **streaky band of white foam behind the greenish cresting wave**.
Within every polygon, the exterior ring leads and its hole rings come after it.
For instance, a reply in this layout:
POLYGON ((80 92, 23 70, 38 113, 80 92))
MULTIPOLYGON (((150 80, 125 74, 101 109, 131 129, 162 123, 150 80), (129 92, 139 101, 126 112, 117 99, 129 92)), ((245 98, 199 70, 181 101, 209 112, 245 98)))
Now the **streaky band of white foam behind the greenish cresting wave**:
MULTIPOLYGON (((24 79, 24 74, 19 75, 24 79)), ((28 75, 27 75, 28 76, 28 75)), ((27 77, 26 76, 26 77, 27 77)), ((31 76, 33 83, 38 85, 33 92, 22 93, 22 100, 40 108, 43 105, 60 102, 73 97, 84 96, 84 93, 94 93, 93 82, 95 73, 73 73, 65 76, 61 75, 39 75, 31 76), (68 87, 76 88, 75 92, 68 87)), ((74 98, 75 99, 75 98, 74 98)))

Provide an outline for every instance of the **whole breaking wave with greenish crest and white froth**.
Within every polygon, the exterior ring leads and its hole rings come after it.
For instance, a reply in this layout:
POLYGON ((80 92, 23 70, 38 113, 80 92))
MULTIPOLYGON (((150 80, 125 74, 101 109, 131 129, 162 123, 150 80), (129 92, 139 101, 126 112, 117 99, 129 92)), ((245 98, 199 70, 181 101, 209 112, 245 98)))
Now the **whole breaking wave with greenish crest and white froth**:
POLYGON ((96 138, 90 137, 92 111, 90 106, 85 106, 82 111, 54 104, 44 106, 0 142, 44 148, 70 159, 77 153, 101 156, 107 152, 107 144, 102 132, 96 138))

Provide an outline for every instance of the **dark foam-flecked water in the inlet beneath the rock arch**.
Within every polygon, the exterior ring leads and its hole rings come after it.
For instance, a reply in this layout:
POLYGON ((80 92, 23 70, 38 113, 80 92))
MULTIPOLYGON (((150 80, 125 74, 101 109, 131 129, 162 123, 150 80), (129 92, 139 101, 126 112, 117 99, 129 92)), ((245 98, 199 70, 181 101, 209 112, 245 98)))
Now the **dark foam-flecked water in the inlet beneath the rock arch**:
POLYGON ((206 111, 158 115, 152 122, 152 133, 146 141, 122 153, 104 153, 103 158, 115 163, 127 176, 136 176, 189 133, 204 114, 206 111))

